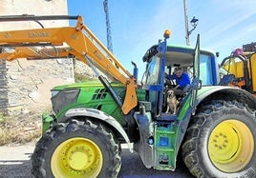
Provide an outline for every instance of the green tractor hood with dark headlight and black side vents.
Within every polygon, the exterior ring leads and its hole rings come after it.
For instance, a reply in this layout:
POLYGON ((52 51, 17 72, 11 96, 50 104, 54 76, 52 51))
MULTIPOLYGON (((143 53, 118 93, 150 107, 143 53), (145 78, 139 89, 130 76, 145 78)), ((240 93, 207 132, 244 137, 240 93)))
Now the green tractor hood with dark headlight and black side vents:
MULTIPOLYGON (((124 97, 125 87, 112 83, 120 98, 124 97)), ((105 105, 116 105, 115 101, 101 83, 86 82, 56 86, 51 89, 55 114, 64 113, 72 108, 101 109, 105 105)))

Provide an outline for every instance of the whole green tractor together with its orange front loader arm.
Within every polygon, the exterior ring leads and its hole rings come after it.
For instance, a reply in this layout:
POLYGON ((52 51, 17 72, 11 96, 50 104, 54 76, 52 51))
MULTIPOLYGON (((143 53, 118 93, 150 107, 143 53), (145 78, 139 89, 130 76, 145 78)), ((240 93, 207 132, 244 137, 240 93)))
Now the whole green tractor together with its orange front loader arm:
POLYGON ((256 177, 256 98, 244 89, 220 86, 215 53, 200 49, 199 36, 195 49, 167 46, 166 31, 164 40, 143 56, 146 68, 139 83, 136 64, 131 75, 81 16, 15 15, 0 21, 57 18, 77 23, 0 32, 0 47, 13 47, 0 50, 0 59, 75 57, 100 81, 52 89, 54 113, 43 114, 43 134, 32 154, 34 177, 117 177, 125 143, 146 168, 175 170, 182 159, 195 177, 256 177), (38 46, 53 48, 33 48, 38 46), (175 67, 192 82, 178 97, 177 112, 166 113, 167 93, 176 81, 164 76, 175 67))

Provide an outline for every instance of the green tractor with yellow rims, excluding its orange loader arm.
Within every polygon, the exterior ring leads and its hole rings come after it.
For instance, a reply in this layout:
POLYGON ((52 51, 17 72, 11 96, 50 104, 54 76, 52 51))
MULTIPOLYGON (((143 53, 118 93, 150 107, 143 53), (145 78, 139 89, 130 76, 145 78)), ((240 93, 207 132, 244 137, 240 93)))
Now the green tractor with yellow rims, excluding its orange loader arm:
POLYGON ((120 144, 134 149, 146 168, 175 170, 182 159, 195 177, 256 176, 256 100, 242 89, 218 86, 215 54, 166 46, 148 49, 136 89, 138 106, 123 114, 126 88, 83 83, 52 89, 54 115, 43 115, 43 136, 32 154, 32 174, 43 177, 117 177, 120 144), (176 114, 165 113, 164 73, 191 75, 176 114), (112 92, 112 94, 111 94, 112 92), (131 146, 134 144, 134 147, 131 146), (179 157, 178 157, 179 155, 179 157))

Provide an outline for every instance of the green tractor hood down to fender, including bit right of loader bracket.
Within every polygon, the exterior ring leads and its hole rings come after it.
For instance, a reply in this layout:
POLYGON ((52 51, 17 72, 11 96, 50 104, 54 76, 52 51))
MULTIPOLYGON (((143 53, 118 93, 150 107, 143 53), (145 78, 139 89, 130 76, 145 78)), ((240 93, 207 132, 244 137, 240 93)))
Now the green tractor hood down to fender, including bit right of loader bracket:
MULTIPOLYGON (((123 101, 126 87, 117 82, 111 83, 111 87, 123 101)), ((102 110, 114 118, 119 118, 119 123, 123 124, 122 110, 101 83, 86 82, 56 86, 51 92, 53 111, 57 118, 64 117, 69 109, 89 108, 102 110)), ((136 92, 138 99, 144 101, 145 91, 137 89, 136 92)))

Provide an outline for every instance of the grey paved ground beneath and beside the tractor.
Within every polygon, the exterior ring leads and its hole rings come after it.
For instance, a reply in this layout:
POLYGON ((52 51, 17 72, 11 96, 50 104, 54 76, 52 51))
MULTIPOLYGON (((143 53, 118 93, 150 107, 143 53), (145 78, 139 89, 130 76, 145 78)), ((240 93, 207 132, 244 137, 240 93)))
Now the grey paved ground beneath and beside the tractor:
MULTIPOLYGON (((0 178, 31 177, 30 157, 34 144, 16 147, 0 147, 0 178)), ((122 148, 122 168, 118 178, 191 178, 185 166, 178 162, 178 168, 173 171, 160 171, 145 168, 138 153, 130 153, 128 148, 122 148)))

